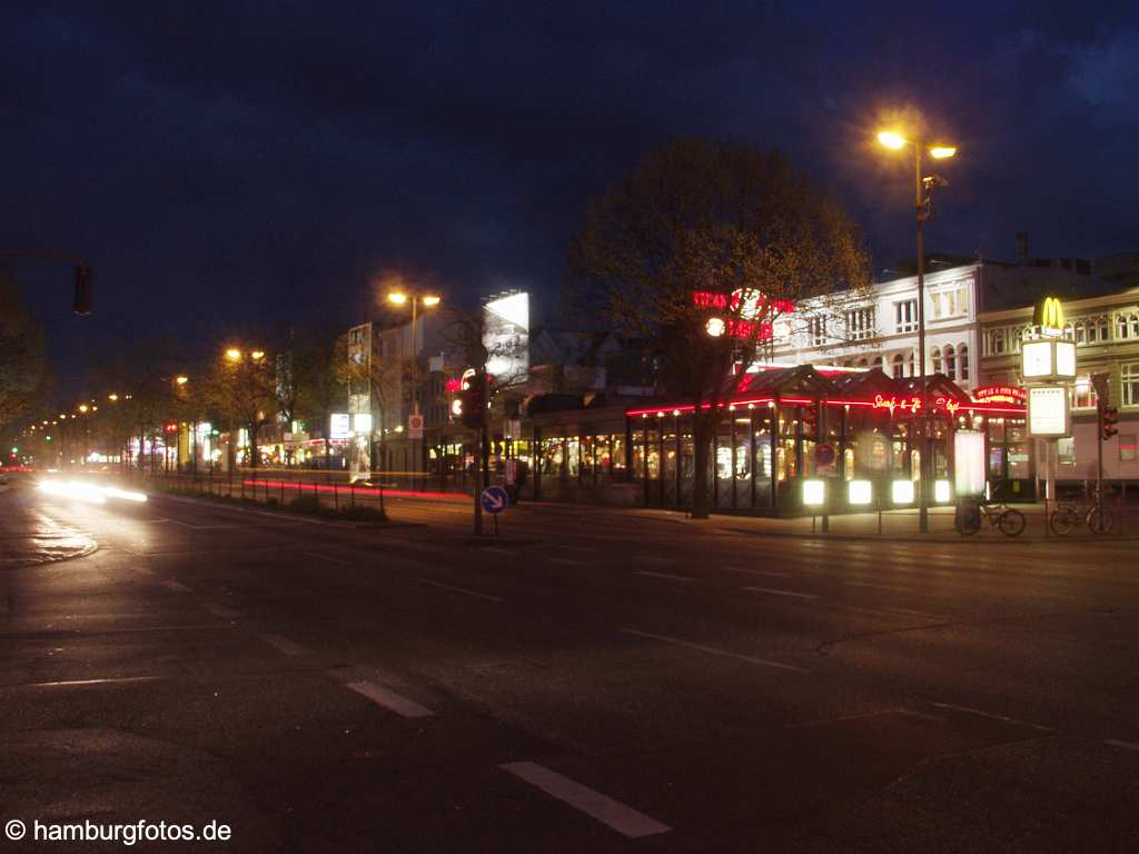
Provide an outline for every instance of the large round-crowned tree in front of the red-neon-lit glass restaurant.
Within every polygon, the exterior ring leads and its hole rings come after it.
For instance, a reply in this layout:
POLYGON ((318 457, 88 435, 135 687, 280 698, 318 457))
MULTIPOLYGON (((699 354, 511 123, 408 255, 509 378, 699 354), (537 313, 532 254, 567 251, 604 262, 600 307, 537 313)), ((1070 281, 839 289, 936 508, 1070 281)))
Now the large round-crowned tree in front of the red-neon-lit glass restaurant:
POLYGON ((681 140, 595 199, 570 251, 576 305, 648 343, 665 391, 695 404, 693 516, 739 375, 793 304, 867 284, 852 220, 778 153, 681 140))

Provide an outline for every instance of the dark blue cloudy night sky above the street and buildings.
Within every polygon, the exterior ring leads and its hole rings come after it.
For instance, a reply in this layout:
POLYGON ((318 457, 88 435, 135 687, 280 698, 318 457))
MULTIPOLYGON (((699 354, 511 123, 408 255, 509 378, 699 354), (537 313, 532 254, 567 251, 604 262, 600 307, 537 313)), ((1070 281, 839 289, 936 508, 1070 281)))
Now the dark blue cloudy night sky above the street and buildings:
POLYGON ((591 195, 678 136, 778 147, 831 186, 875 266, 912 255, 917 110, 959 145, 932 249, 1139 248, 1139 13, 1072 3, 7 3, 2 248, 59 369, 115 338, 198 346, 368 319, 399 271, 551 307, 591 195))

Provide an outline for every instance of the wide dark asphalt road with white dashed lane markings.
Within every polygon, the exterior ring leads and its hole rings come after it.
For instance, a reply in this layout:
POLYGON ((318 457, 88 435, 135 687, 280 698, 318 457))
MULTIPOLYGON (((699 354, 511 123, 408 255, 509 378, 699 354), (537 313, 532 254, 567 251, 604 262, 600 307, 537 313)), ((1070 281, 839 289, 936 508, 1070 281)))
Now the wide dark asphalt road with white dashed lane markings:
POLYGON ((180 851, 1139 849, 1134 542, 550 506, 475 541, 462 506, 388 509, 0 494, 0 820, 231 828, 180 851))

